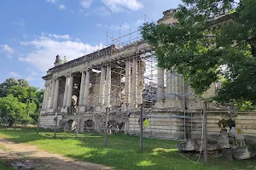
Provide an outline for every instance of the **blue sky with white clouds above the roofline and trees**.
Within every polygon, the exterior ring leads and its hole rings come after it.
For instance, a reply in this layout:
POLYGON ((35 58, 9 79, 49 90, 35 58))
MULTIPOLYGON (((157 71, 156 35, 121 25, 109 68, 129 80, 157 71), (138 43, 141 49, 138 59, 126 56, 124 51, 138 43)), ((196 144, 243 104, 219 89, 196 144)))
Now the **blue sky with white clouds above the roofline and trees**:
MULTIPOLYGON (((144 15, 156 21, 180 0, 1 0, 0 82, 24 78, 44 88, 55 56, 76 59, 137 31, 144 15), (111 40, 108 38, 108 42, 111 40)), ((147 19, 147 21, 149 21, 147 19)))

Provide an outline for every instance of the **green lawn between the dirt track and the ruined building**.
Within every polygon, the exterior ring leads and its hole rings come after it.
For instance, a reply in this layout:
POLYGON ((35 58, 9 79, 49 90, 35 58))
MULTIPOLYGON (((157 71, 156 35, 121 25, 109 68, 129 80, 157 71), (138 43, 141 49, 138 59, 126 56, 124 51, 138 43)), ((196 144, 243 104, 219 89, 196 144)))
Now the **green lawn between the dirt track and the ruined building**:
MULTIPOLYGON (((256 169, 256 159, 248 161, 228 161, 211 159, 206 167, 202 161, 191 163, 177 153, 175 141, 159 139, 144 139, 143 151, 139 150, 139 138, 116 134, 108 136, 108 147, 105 148, 104 138, 98 134, 79 134, 79 140, 73 133, 58 133, 53 139, 53 133, 41 131, 37 134, 33 129, 0 130, 0 137, 15 142, 34 144, 42 150, 59 153, 63 156, 79 160, 104 164, 116 169, 256 169)), ((192 160, 197 157, 190 156, 192 160)))

